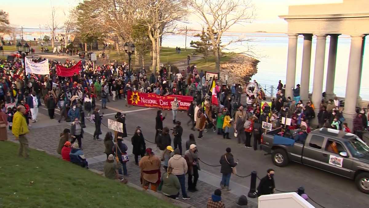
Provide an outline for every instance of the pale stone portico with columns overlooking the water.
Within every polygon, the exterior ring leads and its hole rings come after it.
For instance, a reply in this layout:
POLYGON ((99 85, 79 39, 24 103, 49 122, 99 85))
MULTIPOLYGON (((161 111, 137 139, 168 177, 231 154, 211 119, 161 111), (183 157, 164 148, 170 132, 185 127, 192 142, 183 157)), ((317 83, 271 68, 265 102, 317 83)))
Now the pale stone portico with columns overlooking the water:
POLYGON ((288 23, 288 56, 286 74, 286 97, 293 97, 295 87, 297 38, 303 35, 303 56, 301 66, 300 97, 309 100, 309 79, 311 63, 311 42, 316 36, 316 52, 314 64, 313 92, 311 101, 315 113, 319 112, 322 93, 326 99, 334 94, 334 78, 339 35, 351 36, 351 49, 344 117, 349 127, 356 116, 356 105, 361 101, 359 96, 365 36, 369 34, 369 1, 344 0, 343 3, 289 6, 287 15, 279 16, 288 23), (325 48, 326 38, 330 36, 329 48, 325 48), (329 50, 326 87, 323 90, 325 50, 329 50))

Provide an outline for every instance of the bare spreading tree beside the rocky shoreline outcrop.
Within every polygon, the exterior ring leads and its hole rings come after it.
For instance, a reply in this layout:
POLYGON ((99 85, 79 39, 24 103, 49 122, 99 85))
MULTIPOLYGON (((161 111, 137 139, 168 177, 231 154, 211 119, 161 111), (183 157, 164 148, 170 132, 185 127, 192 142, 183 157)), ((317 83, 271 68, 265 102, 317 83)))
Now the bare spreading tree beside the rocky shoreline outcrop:
MULTIPOLYGON (((228 43, 221 43, 221 37, 230 27, 241 23, 251 23, 255 19, 255 7, 251 0, 189 0, 190 7, 201 19, 204 28, 210 36, 215 57, 215 67, 220 72, 221 51, 232 43, 250 41, 238 38, 228 43)), ((253 52, 246 47, 240 52, 253 56, 253 52)))

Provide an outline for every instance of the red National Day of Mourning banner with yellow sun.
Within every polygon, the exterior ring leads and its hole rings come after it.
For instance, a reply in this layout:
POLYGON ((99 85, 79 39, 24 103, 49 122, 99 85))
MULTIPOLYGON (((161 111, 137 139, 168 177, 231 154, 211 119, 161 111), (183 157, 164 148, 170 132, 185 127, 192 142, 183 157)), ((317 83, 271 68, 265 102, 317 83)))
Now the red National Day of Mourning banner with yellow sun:
POLYGON ((172 102, 177 97, 179 103, 179 110, 188 110, 193 101, 191 96, 183 95, 157 95, 153 93, 139 93, 127 91, 128 104, 142 107, 156 107, 162 109, 172 109, 172 102))

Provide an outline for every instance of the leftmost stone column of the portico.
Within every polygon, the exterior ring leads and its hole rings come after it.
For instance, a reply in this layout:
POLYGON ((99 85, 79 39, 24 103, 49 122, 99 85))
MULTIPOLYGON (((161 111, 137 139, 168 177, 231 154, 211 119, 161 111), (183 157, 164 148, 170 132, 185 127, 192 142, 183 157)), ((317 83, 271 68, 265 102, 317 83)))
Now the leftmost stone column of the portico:
POLYGON ((287 73, 286 73, 286 98, 293 98, 292 87, 295 87, 296 78, 296 53, 297 36, 299 34, 288 34, 288 55, 287 55, 287 73))

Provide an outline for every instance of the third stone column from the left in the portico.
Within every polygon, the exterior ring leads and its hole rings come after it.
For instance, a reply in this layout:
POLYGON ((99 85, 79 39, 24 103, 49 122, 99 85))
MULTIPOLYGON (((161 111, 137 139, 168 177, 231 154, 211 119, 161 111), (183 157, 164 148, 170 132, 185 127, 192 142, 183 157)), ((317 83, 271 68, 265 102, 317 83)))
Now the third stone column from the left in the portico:
POLYGON ((317 36, 317 49, 315 50, 313 95, 311 96, 311 101, 314 104, 315 113, 318 114, 319 105, 321 103, 323 93, 325 40, 327 38, 327 35, 317 34, 316 36, 317 36))

